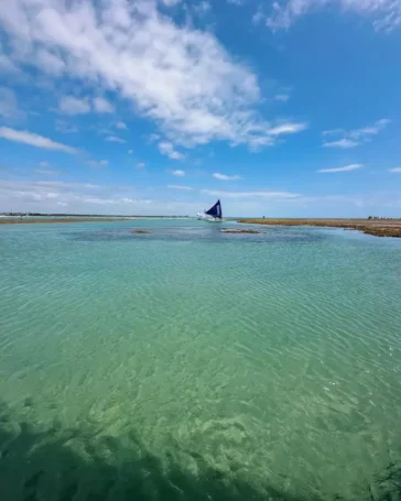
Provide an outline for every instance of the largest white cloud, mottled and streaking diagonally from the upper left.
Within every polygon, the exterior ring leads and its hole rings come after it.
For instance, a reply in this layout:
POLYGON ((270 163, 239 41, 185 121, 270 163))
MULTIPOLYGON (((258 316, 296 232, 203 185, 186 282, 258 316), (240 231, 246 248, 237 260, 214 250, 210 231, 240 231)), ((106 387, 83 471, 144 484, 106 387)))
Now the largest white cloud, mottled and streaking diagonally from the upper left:
MULTIPOLYGON (((40 56, 47 51, 63 73, 85 88, 101 87, 131 101, 175 144, 217 140, 254 149, 279 135, 271 134, 277 120, 258 111, 262 98, 254 73, 213 33, 175 24, 152 0, 3 0, 0 24, 11 47, 24 47, 15 48, 13 63, 56 78, 40 56)), ((87 112, 87 106, 77 105, 75 112, 87 112)))

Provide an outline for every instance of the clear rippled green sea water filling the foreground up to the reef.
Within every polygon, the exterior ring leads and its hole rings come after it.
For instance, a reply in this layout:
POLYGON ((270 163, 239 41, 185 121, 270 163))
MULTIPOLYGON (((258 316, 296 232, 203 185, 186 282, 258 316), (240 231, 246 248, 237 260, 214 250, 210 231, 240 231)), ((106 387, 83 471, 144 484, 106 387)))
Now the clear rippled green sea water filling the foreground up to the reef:
POLYGON ((219 229, 0 227, 1 501, 401 499, 401 242, 219 229))

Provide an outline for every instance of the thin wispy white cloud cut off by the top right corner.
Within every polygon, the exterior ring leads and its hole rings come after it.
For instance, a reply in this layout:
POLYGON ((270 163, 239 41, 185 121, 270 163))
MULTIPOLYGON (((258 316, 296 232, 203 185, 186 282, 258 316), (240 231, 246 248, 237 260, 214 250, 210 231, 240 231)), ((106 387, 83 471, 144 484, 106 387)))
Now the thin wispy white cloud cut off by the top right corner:
POLYGON ((351 12, 372 20, 375 30, 392 31, 401 26, 401 2, 399 0, 283 0, 274 1, 265 24, 273 31, 288 30, 299 18, 332 6, 340 12, 351 12))

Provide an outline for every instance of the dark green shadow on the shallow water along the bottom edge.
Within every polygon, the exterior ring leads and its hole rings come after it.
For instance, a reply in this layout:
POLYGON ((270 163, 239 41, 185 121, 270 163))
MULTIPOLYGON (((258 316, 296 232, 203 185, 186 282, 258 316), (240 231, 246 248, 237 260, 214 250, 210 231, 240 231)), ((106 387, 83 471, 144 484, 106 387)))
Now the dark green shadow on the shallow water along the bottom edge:
MULTIPOLYGON (((130 433, 130 446, 115 437, 94 439, 100 429, 62 429, 57 423, 35 431, 15 422, 0 405, 1 501, 323 501, 316 493, 282 492, 270 484, 253 486, 236 475, 206 465, 197 457, 197 473, 172 458, 162 460, 130 433), (79 444, 79 453, 73 447, 79 444)), ((395 465, 378 475, 376 493, 365 500, 401 500, 401 470, 395 465)), ((333 498, 342 500, 340 497, 333 498)), ((351 501, 351 500, 347 500, 351 501)))

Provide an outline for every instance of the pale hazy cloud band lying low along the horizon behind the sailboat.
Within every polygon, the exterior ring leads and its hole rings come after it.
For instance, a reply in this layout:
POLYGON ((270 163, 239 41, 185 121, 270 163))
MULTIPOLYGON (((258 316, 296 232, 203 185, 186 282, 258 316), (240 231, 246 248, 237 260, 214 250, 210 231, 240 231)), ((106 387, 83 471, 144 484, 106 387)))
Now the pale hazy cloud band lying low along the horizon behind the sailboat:
MULTIPOLYGON (((174 186, 174 185, 171 185, 174 186)), ((176 185, 178 186, 178 185, 176 185)), ((181 189, 181 188, 171 188, 181 189)), ((153 192, 154 193, 154 192, 153 192)), ((386 194, 386 197, 353 196, 353 195, 299 195, 291 192, 219 192, 204 189, 187 190, 187 200, 166 199, 167 189, 162 189, 162 199, 149 199, 136 195, 133 186, 93 185, 88 183, 66 183, 48 181, 10 181, 0 179, 0 210, 9 210, 10 206, 21 211, 58 213, 59 207, 67 207, 75 214, 126 214, 126 215, 195 215, 201 207, 212 203, 216 195, 224 197, 224 209, 230 216, 260 216, 269 214, 272 217, 311 217, 322 214, 327 217, 364 216, 366 208, 377 214, 386 206, 400 207, 399 194, 397 200, 386 194), (370 208, 375 207, 375 208, 370 208), (355 209, 357 210, 355 211, 355 209), (360 210, 359 210, 360 209, 360 210)), ((185 190, 182 192, 185 194, 185 190)), ((172 197, 173 198, 173 197, 172 197)), ((394 215, 394 210, 387 213, 394 215)), ((397 211, 395 211, 397 214, 397 211)))

